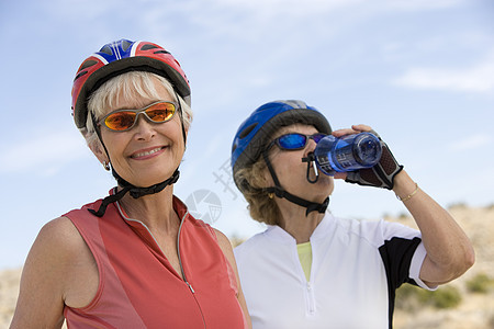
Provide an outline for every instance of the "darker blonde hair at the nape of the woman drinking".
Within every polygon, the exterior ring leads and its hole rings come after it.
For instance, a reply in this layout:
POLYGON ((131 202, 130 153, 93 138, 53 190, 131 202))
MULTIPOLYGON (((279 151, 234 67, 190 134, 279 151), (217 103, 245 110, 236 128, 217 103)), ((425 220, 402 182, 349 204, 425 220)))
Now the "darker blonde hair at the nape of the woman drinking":
POLYGON ((251 166, 239 169, 236 174, 237 182, 246 182, 240 191, 248 202, 248 209, 252 219, 268 225, 279 225, 280 208, 274 198, 269 197, 266 191, 265 172, 268 170, 262 157, 251 166))

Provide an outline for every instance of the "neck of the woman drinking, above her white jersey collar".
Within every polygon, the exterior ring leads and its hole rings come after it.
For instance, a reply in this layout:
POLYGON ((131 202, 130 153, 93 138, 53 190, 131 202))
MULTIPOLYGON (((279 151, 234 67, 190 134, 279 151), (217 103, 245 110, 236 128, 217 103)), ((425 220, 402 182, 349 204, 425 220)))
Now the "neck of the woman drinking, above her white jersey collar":
POLYGON ((277 204, 281 213, 279 226, 290 234, 296 243, 308 242, 315 228, 323 220, 324 214, 312 212, 305 216, 305 207, 283 198, 278 198, 277 204))

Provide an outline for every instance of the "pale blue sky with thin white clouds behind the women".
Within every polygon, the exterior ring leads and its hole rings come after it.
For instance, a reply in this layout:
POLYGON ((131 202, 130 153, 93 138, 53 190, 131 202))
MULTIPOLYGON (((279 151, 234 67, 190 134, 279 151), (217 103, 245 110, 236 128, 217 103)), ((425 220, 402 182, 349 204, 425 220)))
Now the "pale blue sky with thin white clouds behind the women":
MULTIPOLYGON (((212 224, 228 236, 262 229, 228 180, 233 136, 279 99, 306 101, 334 128, 371 125, 444 206, 494 203, 490 0, 20 0, 0 3, 0 269, 114 185, 74 125, 70 89, 86 57, 123 37, 162 45, 187 72, 194 122, 175 192, 216 196, 212 224)), ((329 208, 405 212, 392 192, 340 181, 329 208)))

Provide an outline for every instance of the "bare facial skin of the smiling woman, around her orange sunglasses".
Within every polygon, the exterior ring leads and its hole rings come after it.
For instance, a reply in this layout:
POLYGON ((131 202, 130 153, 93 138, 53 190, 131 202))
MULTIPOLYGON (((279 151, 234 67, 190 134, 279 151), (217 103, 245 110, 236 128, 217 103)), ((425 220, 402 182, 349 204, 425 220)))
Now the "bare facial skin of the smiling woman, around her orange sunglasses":
MULTIPOLYGON (((143 109, 157 101, 177 103, 167 89, 153 80, 158 99, 147 99, 119 93, 105 114, 115 110, 143 109)), ((178 168, 184 152, 184 140, 180 115, 165 123, 151 123, 145 115, 138 115, 134 127, 125 132, 112 132, 101 126, 101 137, 114 170, 127 182, 136 186, 150 186, 167 180, 178 168)), ((98 158, 106 157, 96 152, 98 158)))

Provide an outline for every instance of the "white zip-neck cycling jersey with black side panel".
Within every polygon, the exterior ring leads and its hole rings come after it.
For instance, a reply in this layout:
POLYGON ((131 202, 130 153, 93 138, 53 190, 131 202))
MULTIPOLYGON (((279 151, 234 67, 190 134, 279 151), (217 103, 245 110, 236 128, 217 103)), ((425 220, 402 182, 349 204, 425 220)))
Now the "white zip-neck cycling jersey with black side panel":
POLYGON ((418 277, 420 232, 396 223, 341 219, 329 213, 311 236, 307 282, 296 241, 269 226, 235 248, 255 329, 391 328, 395 290, 418 277))

